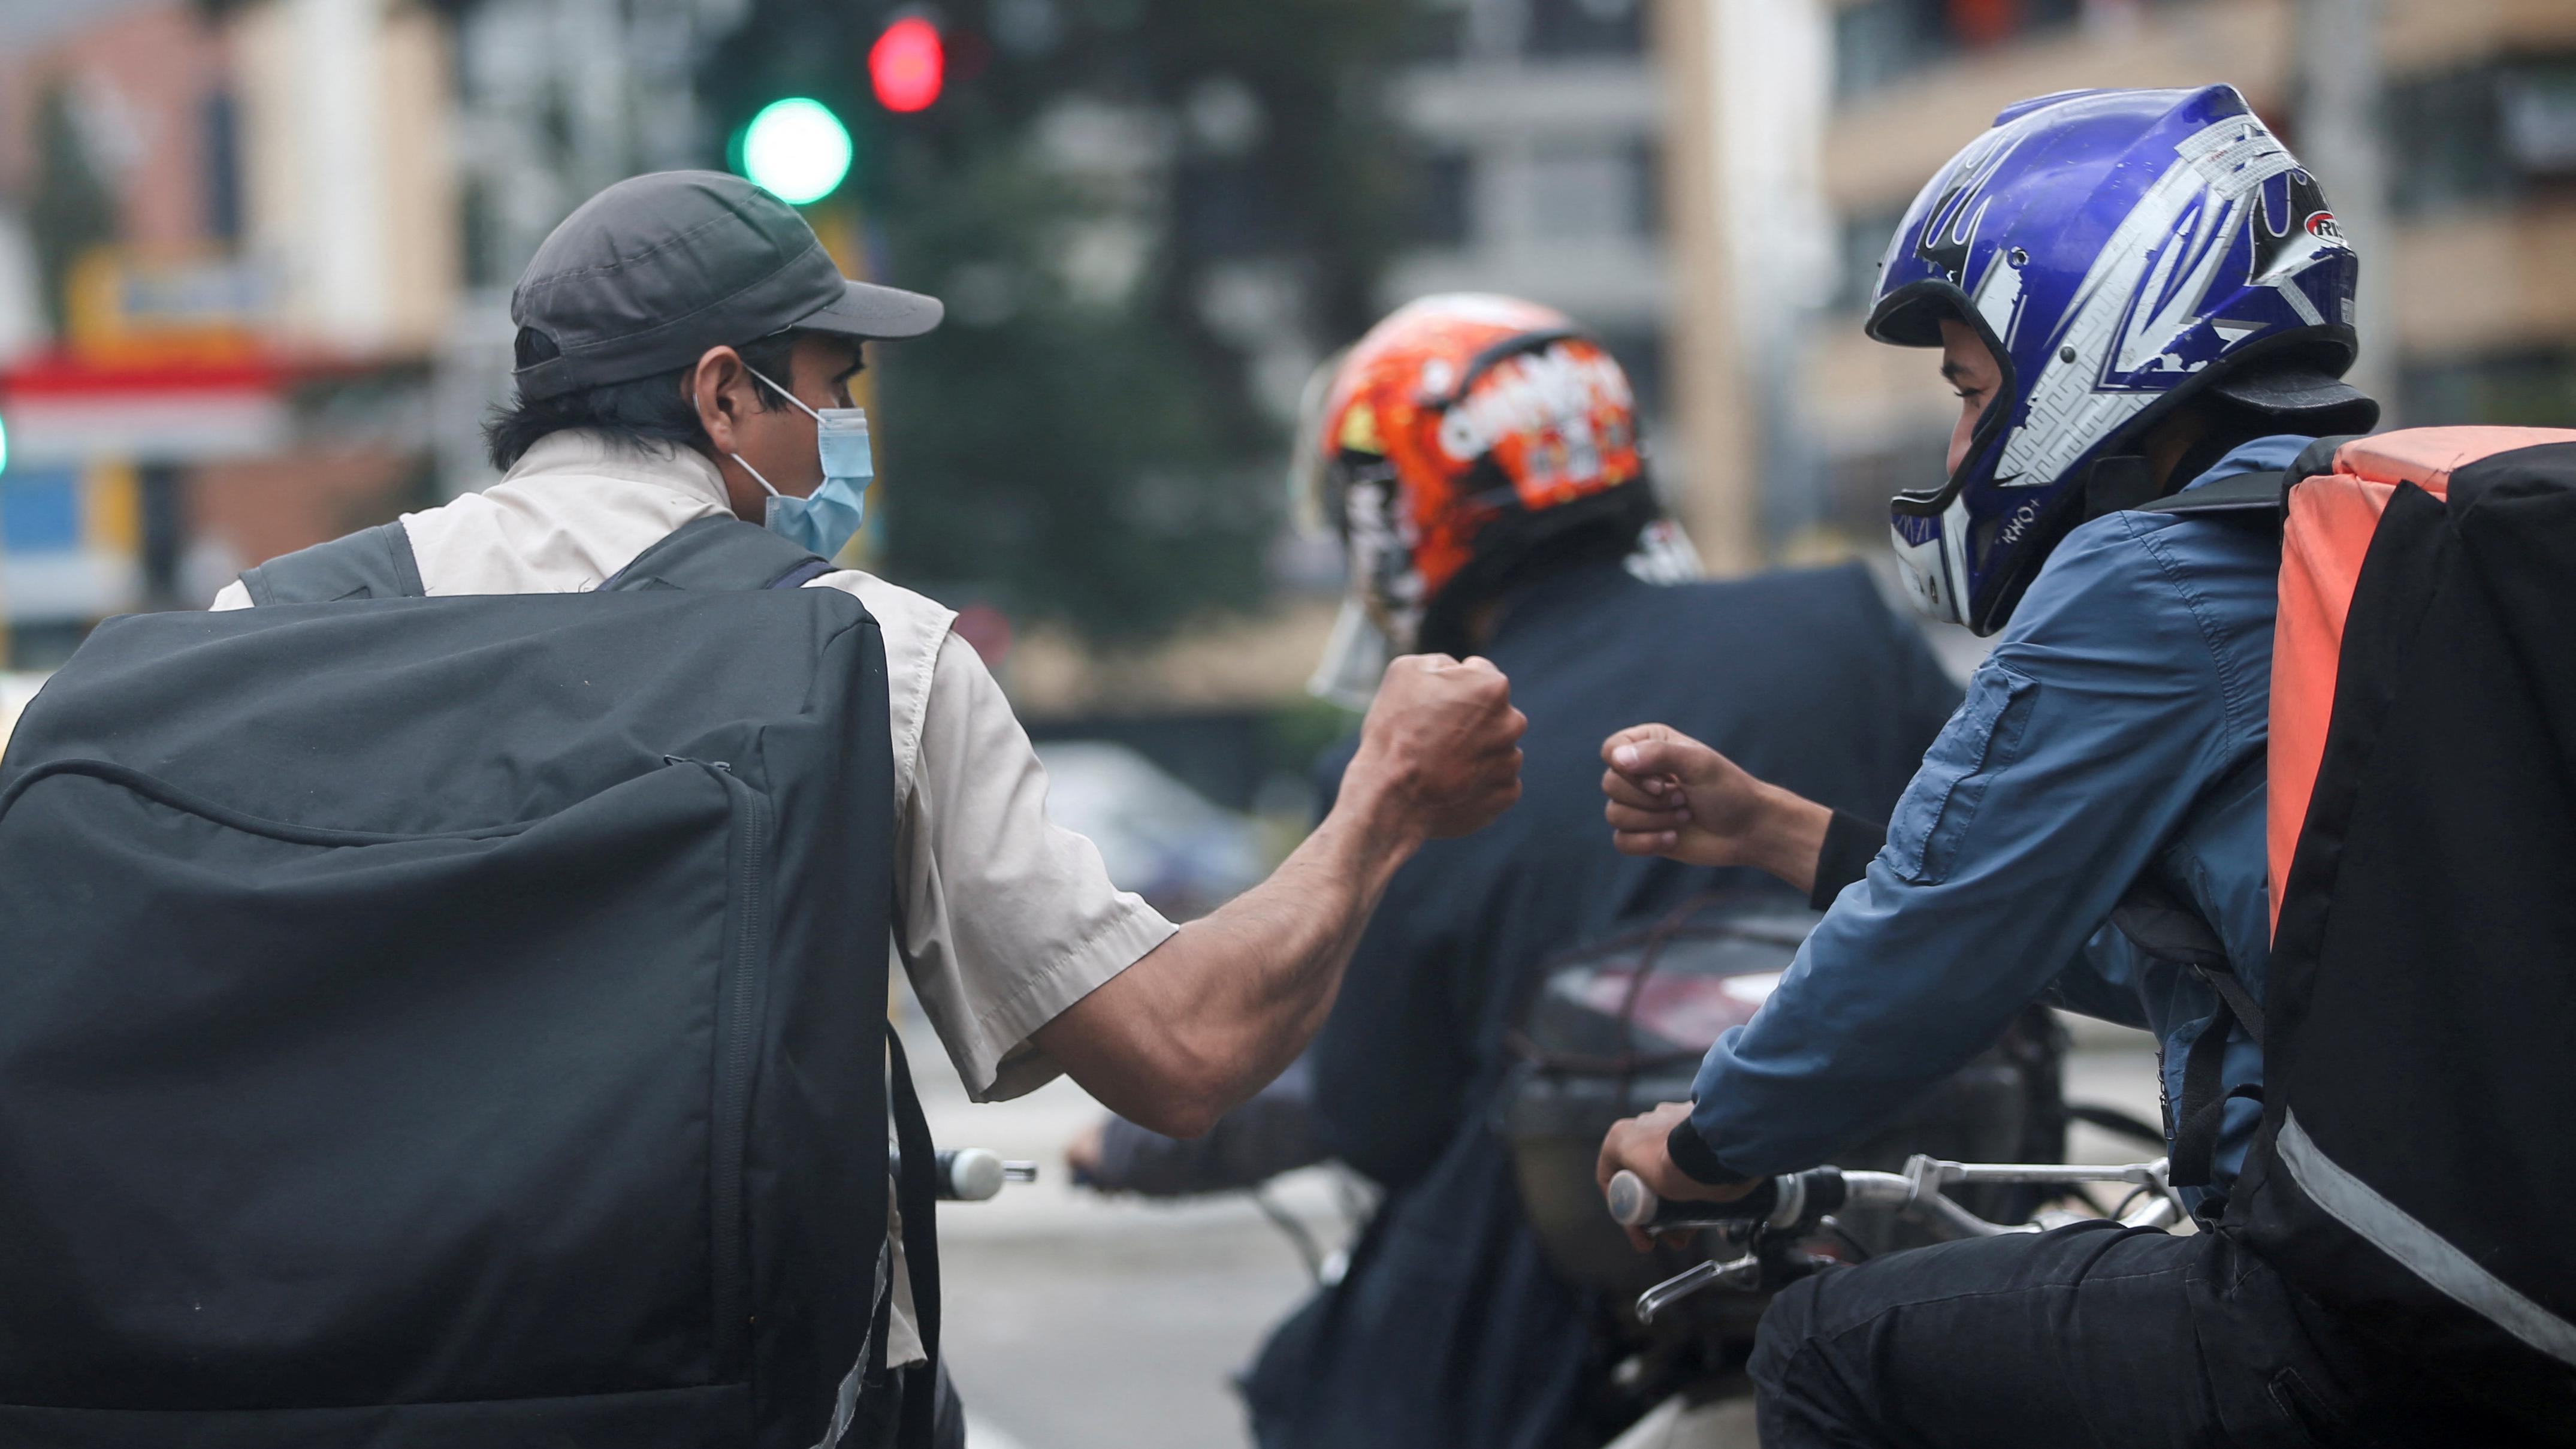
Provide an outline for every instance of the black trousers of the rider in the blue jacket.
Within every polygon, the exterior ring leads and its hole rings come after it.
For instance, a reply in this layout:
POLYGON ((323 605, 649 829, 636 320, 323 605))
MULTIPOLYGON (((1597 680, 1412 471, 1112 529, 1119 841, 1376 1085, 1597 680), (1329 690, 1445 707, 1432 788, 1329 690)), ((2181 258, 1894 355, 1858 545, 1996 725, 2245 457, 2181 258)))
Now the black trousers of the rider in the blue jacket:
POLYGON ((2087 1222, 1829 1269, 1752 1356, 1765 1449, 2527 1444, 2226 1235, 2087 1222))

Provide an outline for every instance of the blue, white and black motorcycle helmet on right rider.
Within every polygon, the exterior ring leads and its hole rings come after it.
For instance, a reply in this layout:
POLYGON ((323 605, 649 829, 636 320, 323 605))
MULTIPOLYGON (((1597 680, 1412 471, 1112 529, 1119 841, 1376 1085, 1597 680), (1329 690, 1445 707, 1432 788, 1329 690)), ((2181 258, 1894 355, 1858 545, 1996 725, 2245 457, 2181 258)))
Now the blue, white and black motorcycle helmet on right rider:
POLYGON ((2120 495, 2089 487, 2097 469, 2146 503, 2141 441, 2195 400, 2259 431, 2367 431, 2378 402, 2342 382, 2357 266, 2316 178, 2231 85, 2009 106, 1878 263, 1870 338, 1937 348, 1947 317, 2002 369, 1960 467, 1891 500, 1917 608, 2002 629, 2048 552, 2120 495))

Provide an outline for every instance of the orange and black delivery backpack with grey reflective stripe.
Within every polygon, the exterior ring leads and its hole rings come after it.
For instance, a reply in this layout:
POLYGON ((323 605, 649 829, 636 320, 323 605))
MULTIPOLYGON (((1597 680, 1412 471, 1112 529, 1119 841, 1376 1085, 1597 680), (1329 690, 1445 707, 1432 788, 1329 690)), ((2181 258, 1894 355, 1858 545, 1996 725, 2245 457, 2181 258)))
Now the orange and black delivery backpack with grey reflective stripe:
POLYGON ((2151 508, 2282 529, 2264 1122, 2221 1230, 2563 1431, 2576 431, 2321 438, 2151 508))

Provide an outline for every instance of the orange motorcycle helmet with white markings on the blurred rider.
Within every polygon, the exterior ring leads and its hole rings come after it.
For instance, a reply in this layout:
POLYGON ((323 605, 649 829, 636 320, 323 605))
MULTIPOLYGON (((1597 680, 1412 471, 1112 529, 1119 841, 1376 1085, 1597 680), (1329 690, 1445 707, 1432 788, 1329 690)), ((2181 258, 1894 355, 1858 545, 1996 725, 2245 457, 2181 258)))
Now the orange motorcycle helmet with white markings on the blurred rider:
POLYGON ((1396 650, 1463 652, 1463 614, 1512 570, 1574 541, 1620 557, 1659 516, 1628 374, 1535 302, 1412 302, 1311 402, 1301 490, 1396 650))

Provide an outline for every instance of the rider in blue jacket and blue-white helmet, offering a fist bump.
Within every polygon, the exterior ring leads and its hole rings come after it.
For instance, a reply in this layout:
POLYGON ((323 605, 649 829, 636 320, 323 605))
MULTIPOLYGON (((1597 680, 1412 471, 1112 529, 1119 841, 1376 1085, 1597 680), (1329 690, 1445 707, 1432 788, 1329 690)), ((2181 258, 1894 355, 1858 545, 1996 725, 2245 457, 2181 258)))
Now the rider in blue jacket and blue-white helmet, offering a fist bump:
MULTIPOLYGON (((2259 1039, 2110 918, 2154 882, 2259 1000, 2280 547, 2136 508, 2375 423, 2336 382, 2352 284, 2316 180, 2231 88, 2030 101, 1932 178, 1870 335, 1937 345, 1960 420, 1947 482, 1893 500, 1896 549, 1917 603, 2002 639, 1883 841, 1659 724, 1605 743, 1623 851, 1850 884, 1708 1052, 1695 1101, 1613 1129, 1602 1181, 1741 1196, 2056 1000, 2161 1039, 2177 1183, 2218 1220, 2259 1119, 2259 1039), (2218 1091, 2184 1101, 2210 1034, 2218 1091)), ((1795 1284, 1752 1374, 1775 1449, 2316 1444, 2365 1421, 2411 1441, 2411 1413, 2455 1408, 2455 1379, 2385 1364, 2226 1232, 2099 1222, 1795 1284)))

